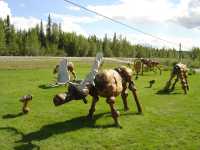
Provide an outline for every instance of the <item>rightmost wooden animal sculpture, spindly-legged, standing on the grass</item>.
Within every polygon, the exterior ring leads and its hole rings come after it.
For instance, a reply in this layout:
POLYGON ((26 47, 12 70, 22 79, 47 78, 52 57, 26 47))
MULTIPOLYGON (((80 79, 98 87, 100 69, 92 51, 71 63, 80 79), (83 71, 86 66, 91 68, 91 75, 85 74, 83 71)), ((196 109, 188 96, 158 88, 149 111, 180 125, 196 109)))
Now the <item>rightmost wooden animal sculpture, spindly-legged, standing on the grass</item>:
POLYGON ((188 68, 187 68, 186 65, 184 65, 182 63, 175 64, 173 69, 172 69, 170 79, 166 83, 164 91, 173 91, 176 83, 180 79, 182 89, 184 90, 184 93, 187 94, 187 91, 189 91, 189 85, 188 85, 188 81, 187 81, 187 71, 188 71, 188 68), (172 83, 172 80, 173 80, 174 77, 176 77, 176 79, 175 79, 175 81, 172 84, 172 87, 170 89, 170 86, 171 86, 171 83, 172 83))

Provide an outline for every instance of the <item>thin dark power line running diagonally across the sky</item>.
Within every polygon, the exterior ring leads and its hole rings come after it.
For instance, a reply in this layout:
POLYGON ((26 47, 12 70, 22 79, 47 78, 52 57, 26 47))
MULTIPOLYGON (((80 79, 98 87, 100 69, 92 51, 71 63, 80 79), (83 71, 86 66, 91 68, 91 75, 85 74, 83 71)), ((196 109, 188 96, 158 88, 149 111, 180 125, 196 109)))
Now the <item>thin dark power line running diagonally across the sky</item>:
POLYGON ((112 21, 112 22, 115 22, 115 23, 117 23, 117 24, 120 24, 120 25, 122 25, 122 26, 125 26, 125 27, 127 27, 127 28, 129 28, 129 29, 131 29, 131 30, 134 30, 134 31, 137 31, 137 32, 142 33, 142 34, 144 34, 144 35, 153 37, 154 39, 158 39, 158 40, 160 40, 160 41, 164 41, 164 42, 166 42, 166 43, 170 43, 170 44, 179 46, 179 43, 175 43, 175 42, 172 42, 172 41, 163 39, 163 38, 161 38, 161 37, 155 36, 155 35, 153 35, 153 34, 144 32, 144 31, 142 31, 142 30, 139 29, 139 28, 135 28, 135 27, 130 26, 130 25, 128 25, 128 24, 125 24, 125 23, 123 23, 123 22, 121 22, 121 21, 118 21, 118 20, 115 20, 115 19, 110 18, 110 17, 108 17, 108 16, 105 16, 105 15, 99 13, 99 12, 96 12, 96 11, 94 11, 94 10, 88 9, 88 8, 86 8, 86 7, 84 7, 84 6, 80 5, 80 4, 78 4, 78 3, 75 3, 75 2, 72 2, 72 1, 69 1, 69 0, 64 0, 64 1, 67 2, 67 3, 70 3, 70 4, 72 4, 72 5, 74 5, 74 6, 76 6, 76 7, 79 7, 79 8, 81 8, 81 9, 84 9, 84 10, 86 10, 86 11, 88 11, 88 12, 91 12, 91 13, 93 13, 93 14, 96 14, 96 15, 98 15, 98 16, 101 16, 101 17, 103 17, 103 18, 106 18, 106 19, 108 19, 108 20, 110 20, 110 21, 112 21))

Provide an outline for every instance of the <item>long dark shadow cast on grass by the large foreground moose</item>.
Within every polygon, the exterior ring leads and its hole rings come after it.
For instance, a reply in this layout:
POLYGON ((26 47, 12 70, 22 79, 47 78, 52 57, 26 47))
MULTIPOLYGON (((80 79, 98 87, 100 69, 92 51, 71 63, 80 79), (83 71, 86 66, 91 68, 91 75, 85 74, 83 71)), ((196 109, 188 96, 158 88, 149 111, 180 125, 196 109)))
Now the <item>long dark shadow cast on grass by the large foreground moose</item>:
MULTIPOLYGON (((136 113, 126 113, 123 115, 132 115, 136 113)), ((57 122, 49 125, 43 126, 40 130, 34 131, 28 134, 24 134, 22 132, 19 132, 17 129, 13 127, 5 127, 0 128, 0 130, 8 130, 11 132, 14 132, 15 134, 20 134, 22 136, 22 139, 19 141, 16 141, 16 143, 21 143, 22 145, 19 145, 15 147, 16 150, 24 150, 24 149, 40 149, 39 146, 32 144, 33 141, 41 141, 48 139, 49 137, 57 134, 62 134, 66 132, 72 132, 79 130, 81 128, 111 128, 116 127, 114 124, 106 124, 106 125, 95 125, 96 120, 101 118, 104 115, 110 116, 110 112, 107 113, 100 113, 97 115, 94 115, 94 118, 92 120, 88 120, 85 116, 72 118, 67 121, 63 122, 57 122)))

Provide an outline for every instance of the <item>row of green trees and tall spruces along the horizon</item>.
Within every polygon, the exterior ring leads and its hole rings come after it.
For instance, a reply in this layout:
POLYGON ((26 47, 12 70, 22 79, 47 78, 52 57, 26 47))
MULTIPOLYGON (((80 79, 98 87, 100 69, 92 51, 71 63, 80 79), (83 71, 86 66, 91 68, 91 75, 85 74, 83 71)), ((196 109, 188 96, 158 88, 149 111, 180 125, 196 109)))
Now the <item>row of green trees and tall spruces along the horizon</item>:
POLYGON ((200 60, 200 49, 182 52, 169 48, 153 48, 131 44, 125 37, 114 33, 112 38, 96 35, 85 37, 75 32, 64 32, 61 24, 48 16, 46 29, 43 21, 26 30, 16 30, 10 17, 0 18, 0 55, 2 56, 95 56, 102 51, 106 57, 159 57, 191 58, 200 60))

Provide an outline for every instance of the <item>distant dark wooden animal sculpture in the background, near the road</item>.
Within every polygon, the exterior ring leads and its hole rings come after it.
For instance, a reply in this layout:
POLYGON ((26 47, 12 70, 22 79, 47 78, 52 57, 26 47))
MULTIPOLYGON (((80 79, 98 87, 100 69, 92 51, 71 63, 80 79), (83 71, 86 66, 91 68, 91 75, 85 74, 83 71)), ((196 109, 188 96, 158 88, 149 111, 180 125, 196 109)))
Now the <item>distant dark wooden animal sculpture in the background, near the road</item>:
POLYGON ((144 71, 144 65, 146 65, 147 68, 149 68, 150 70, 153 70, 153 71, 154 71, 154 68, 156 67, 160 71, 160 75, 162 74, 162 71, 160 68, 160 63, 158 61, 151 60, 151 59, 145 59, 145 58, 141 58, 140 60, 142 62, 142 75, 143 75, 143 71, 144 71))

